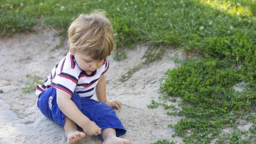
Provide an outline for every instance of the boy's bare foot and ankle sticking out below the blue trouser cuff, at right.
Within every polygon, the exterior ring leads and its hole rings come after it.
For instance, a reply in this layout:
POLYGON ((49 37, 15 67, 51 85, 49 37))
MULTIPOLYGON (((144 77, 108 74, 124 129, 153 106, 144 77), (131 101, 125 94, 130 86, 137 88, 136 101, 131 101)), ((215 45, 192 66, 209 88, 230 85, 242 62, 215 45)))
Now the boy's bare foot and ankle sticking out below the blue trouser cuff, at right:
POLYGON ((102 144, 131 144, 127 139, 116 137, 116 130, 113 128, 102 130, 102 138, 102 144))

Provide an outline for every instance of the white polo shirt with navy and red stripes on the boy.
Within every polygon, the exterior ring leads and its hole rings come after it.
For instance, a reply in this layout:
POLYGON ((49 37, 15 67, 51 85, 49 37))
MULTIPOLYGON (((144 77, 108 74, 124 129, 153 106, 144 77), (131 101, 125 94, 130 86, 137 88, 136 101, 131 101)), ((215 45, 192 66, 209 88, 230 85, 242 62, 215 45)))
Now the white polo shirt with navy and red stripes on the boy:
POLYGON ((89 75, 79 68, 76 64, 75 56, 69 52, 56 63, 44 84, 37 86, 36 95, 39 96, 49 87, 54 87, 70 96, 76 91, 80 97, 91 98, 95 93, 99 77, 108 71, 109 65, 108 60, 104 59, 102 66, 89 75))

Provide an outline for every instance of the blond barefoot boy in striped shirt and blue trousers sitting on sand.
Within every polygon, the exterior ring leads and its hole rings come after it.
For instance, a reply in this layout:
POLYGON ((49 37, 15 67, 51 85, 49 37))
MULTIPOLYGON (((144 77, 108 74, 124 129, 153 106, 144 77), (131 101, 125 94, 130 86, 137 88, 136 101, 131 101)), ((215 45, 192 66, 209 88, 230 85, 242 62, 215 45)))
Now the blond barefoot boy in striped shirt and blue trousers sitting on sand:
POLYGON ((106 59, 114 49, 113 29, 104 11, 81 14, 68 28, 70 52, 56 63, 43 85, 38 85, 38 108, 48 119, 64 127, 70 144, 86 135, 103 138, 103 144, 131 144, 119 138, 126 130, 108 102, 106 59), (94 92, 98 101, 90 99, 94 92), (77 130, 77 126, 84 132, 77 130))

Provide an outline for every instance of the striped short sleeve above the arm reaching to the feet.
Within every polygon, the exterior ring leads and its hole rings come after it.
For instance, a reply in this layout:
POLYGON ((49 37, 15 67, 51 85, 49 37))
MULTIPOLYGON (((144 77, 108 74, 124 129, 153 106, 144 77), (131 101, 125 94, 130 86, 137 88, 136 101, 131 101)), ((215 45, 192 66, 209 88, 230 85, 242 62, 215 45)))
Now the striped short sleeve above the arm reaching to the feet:
POLYGON ((78 76, 74 69, 63 69, 61 73, 52 80, 51 86, 72 96, 78 82, 78 76))

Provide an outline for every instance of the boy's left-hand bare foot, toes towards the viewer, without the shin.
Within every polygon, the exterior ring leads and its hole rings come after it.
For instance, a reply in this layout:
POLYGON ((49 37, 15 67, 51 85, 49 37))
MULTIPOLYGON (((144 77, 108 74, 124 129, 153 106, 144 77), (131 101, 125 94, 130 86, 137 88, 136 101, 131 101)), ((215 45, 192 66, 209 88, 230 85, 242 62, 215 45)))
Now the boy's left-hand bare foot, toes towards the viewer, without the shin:
POLYGON ((67 142, 69 144, 76 144, 80 139, 85 137, 85 133, 79 132, 78 130, 73 130, 67 134, 67 142))

